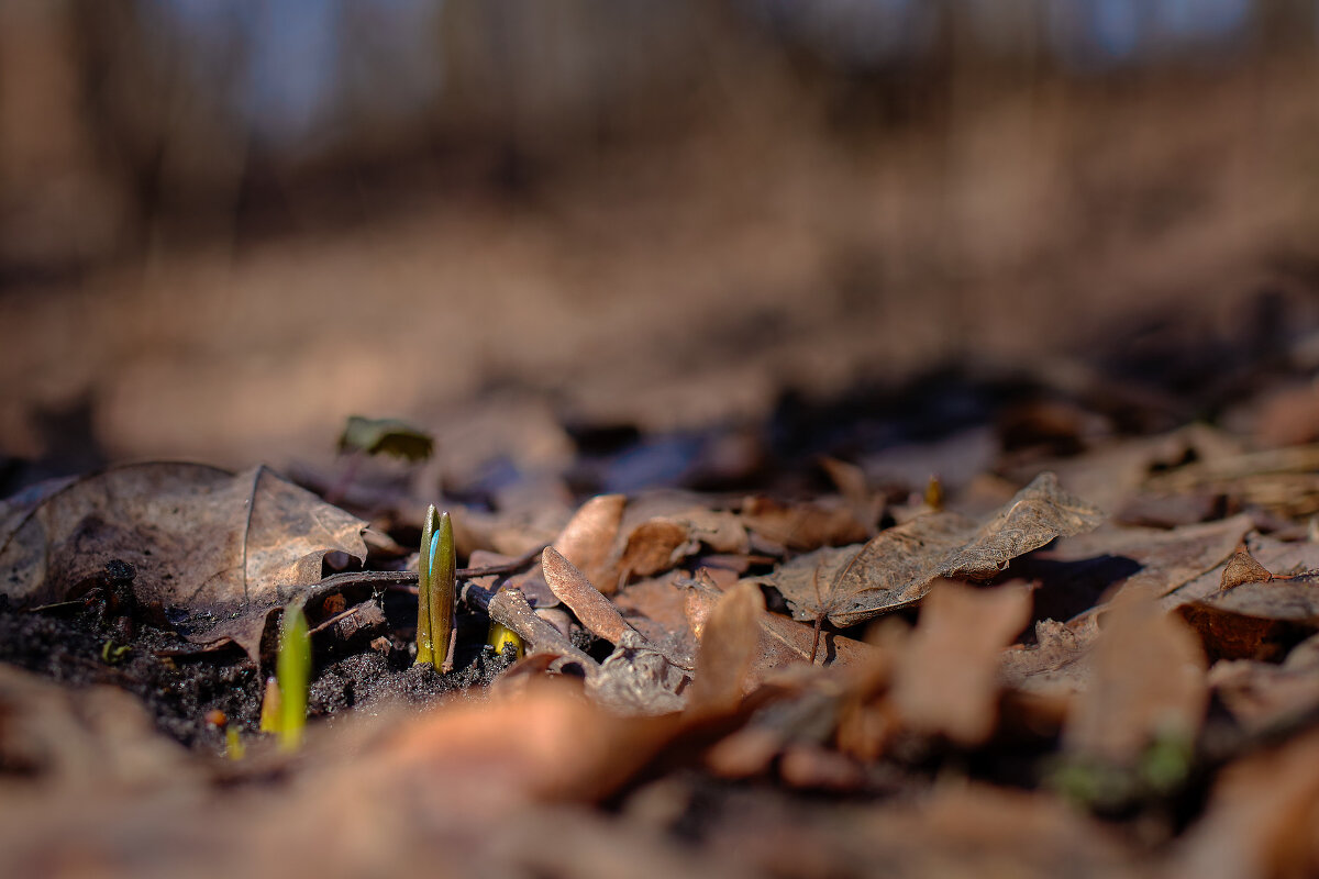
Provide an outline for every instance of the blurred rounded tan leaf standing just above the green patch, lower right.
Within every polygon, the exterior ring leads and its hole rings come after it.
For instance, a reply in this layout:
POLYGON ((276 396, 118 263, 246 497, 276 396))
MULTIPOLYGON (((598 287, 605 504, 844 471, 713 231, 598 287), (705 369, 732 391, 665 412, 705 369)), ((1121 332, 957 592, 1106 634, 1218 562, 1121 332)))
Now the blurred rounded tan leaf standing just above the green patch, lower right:
POLYGON ((1068 750, 1130 766, 1161 737, 1191 741, 1208 705, 1204 652, 1178 617, 1128 597, 1109 610, 1089 687, 1063 733, 1068 750))

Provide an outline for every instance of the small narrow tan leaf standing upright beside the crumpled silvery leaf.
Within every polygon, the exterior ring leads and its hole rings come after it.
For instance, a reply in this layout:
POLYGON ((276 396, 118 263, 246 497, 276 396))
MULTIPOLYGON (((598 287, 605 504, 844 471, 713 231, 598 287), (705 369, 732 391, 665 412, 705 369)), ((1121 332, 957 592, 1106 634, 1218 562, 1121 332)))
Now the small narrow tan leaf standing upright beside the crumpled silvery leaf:
POLYGON ((757 659, 764 615, 765 596, 753 582, 741 582, 720 596, 700 633, 690 710, 719 713, 737 706, 757 659))

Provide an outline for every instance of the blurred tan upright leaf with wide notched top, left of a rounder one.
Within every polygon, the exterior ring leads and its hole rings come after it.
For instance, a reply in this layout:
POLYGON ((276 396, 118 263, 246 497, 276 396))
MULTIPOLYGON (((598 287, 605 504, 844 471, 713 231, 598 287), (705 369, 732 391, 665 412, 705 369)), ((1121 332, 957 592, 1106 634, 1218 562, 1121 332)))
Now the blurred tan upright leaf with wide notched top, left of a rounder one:
POLYGON ((907 727, 980 745, 998 718, 998 654, 1030 619, 1030 593, 934 584, 898 658, 893 700, 907 727))

